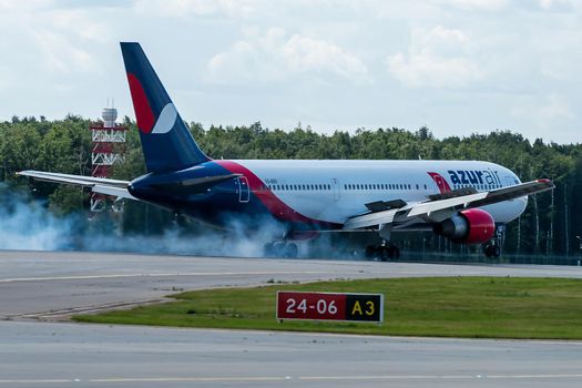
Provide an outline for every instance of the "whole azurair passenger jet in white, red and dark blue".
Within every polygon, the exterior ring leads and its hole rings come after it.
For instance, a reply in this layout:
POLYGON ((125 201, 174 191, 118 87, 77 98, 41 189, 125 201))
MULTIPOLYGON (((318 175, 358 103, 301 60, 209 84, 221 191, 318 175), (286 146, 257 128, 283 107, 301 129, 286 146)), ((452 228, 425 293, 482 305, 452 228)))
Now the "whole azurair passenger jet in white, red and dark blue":
POLYGON ((500 255, 504 225, 528 195, 552 181, 522 183, 510 170, 480 161, 213 160, 196 144, 141 45, 122 42, 147 173, 120 181, 40 171, 19 174, 142 201, 214 225, 274 219, 284 235, 265 255, 296 257, 296 242, 325 232, 378 233, 366 256, 398 258, 392 233, 432 231, 500 255))

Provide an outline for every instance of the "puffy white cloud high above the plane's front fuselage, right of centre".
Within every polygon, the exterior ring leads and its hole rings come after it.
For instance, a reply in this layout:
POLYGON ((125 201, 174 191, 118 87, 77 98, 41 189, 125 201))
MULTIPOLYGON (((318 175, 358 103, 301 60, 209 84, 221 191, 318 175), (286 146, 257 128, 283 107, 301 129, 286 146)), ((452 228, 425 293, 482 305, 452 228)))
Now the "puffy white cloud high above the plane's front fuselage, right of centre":
POLYGON ((386 58, 390 73, 407 88, 463 88, 483 76, 468 57, 470 40, 460 30, 437 25, 412 30, 408 52, 386 58))

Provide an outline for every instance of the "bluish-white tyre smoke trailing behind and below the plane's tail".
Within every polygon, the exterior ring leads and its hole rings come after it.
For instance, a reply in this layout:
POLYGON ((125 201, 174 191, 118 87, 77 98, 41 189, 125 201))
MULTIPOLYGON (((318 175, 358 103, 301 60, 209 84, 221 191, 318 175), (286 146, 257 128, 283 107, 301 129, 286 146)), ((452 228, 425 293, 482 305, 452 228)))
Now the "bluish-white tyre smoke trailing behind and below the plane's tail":
MULTIPOLYGON (((253 225, 257 227, 253 228, 247 221, 234 216, 226 225, 226 231, 207 227, 195 234, 185 233, 177 225, 160 235, 105 234, 91 228, 88 214, 54 216, 45 203, 0 184, 0 249, 261 257, 264 244, 284 233, 280 225, 266 217, 255 221, 253 225)), ((110 229, 115 228, 112 225, 110 229)))

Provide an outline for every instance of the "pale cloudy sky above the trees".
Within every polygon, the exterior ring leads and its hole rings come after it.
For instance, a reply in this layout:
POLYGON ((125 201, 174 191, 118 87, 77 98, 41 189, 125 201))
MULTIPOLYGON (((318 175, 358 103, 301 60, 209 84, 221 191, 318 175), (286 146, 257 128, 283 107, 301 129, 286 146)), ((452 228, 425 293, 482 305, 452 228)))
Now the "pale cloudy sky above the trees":
POLYGON ((205 127, 582 142, 576 0, 0 0, 0 120, 133 119, 120 41, 205 127))

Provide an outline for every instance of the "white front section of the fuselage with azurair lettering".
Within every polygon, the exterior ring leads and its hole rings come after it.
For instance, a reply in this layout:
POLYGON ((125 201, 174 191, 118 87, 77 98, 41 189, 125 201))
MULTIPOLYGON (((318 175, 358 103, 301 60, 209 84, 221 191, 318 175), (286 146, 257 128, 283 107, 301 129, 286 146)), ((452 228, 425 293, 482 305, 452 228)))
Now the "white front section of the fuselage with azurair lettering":
MULTIPOLYGON (((447 190, 478 192, 519 184, 510 170, 478 161, 318 161, 237 160, 267 185, 269 192, 297 213, 343 224, 368 212, 377 201, 425 202, 447 190), (435 177, 438 176, 438 177, 435 177), (440 177, 445 181, 437 184, 440 177)), ((496 223, 510 222, 524 211, 527 197, 482 208, 496 223)))

